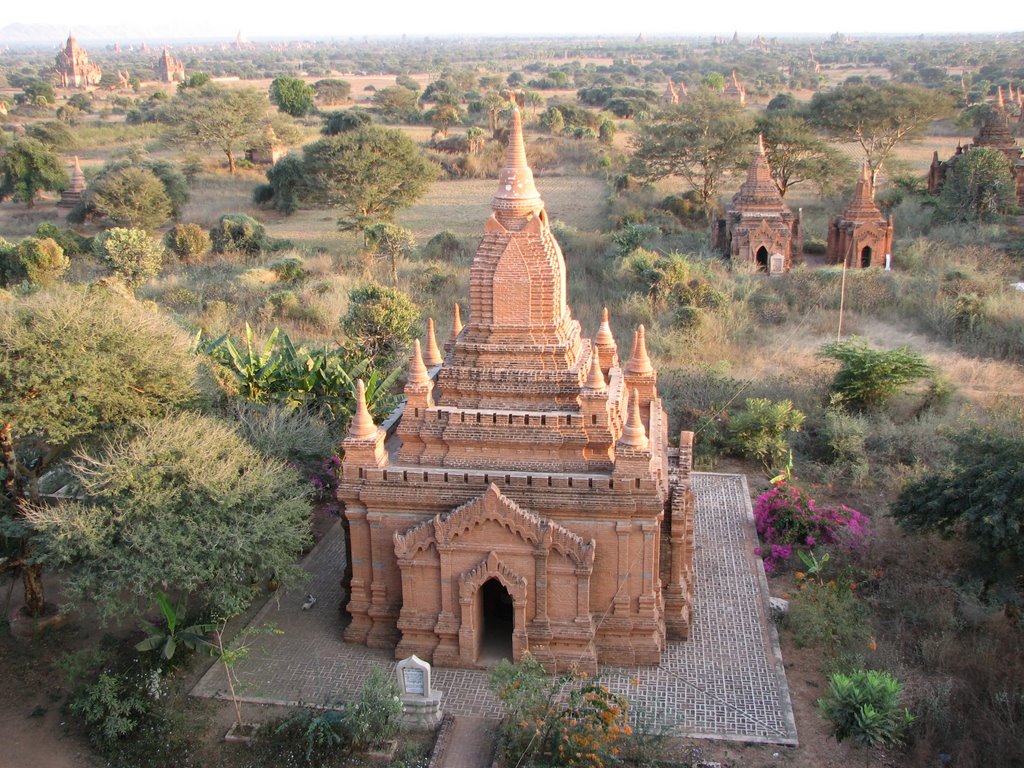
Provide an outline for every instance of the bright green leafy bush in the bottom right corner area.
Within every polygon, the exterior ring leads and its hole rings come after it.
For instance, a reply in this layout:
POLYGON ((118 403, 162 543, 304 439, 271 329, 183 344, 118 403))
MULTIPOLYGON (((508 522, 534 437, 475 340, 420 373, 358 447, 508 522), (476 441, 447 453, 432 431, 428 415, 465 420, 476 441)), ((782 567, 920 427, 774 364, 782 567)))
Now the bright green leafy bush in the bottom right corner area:
POLYGON ((849 739, 864 749, 894 746, 913 722, 909 710, 900 709, 902 690, 887 672, 836 674, 828 680, 828 693, 818 699, 818 709, 831 723, 837 741, 849 739))

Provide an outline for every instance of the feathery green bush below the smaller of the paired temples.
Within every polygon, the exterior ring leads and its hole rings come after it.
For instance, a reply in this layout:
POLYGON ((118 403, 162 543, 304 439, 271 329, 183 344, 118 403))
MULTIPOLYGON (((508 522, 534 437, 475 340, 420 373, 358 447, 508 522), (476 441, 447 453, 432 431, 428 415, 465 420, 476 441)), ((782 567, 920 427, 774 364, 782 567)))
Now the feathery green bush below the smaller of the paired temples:
POLYGON ((907 384, 934 373, 908 347, 873 349, 862 339, 835 341, 821 347, 818 355, 839 360, 831 389, 857 410, 879 408, 907 384))

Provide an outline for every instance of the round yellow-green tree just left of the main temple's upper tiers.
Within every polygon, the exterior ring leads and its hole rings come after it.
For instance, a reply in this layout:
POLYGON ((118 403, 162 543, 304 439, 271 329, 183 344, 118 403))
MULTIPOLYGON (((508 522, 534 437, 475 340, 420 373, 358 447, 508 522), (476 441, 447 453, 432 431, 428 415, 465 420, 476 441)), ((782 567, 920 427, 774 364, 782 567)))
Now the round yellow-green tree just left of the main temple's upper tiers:
POLYGON ((348 295, 348 312, 341 330, 380 369, 401 359, 418 335, 420 310, 397 288, 370 285, 348 295))

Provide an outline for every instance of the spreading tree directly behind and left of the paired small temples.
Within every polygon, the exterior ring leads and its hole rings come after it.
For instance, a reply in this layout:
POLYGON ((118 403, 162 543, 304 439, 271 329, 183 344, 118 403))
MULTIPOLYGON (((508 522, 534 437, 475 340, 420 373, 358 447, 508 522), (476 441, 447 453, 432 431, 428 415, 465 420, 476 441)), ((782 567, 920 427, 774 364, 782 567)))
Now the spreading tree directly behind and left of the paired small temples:
POLYGON ((633 170, 654 181, 681 176, 711 210, 722 177, 749 157, 751 122, 743 108, 709 88, 640 125, 633 170))

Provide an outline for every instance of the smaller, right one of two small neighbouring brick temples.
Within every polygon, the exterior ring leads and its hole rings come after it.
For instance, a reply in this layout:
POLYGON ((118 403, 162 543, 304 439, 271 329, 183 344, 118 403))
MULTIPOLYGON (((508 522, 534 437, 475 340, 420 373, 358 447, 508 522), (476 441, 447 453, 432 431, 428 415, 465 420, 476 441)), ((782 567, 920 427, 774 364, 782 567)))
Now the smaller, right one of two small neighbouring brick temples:
POLYGON ((864 163, 853 200, 847 209, 828 222, 825 260, 850 267, 884 266, 893 252, 893 217, 882 215, 874 204, 871 173, 864 163))

